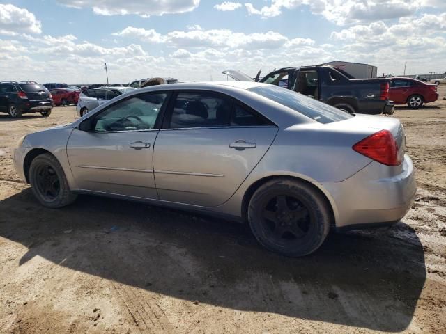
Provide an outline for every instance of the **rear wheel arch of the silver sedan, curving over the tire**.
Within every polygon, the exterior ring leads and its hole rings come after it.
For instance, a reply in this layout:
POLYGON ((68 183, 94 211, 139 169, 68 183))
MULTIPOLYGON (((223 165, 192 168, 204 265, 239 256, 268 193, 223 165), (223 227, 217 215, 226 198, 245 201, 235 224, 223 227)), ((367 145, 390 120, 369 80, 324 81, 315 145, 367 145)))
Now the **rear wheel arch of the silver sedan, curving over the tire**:
POLYGON ((311 186, 312 189, 316 190, 323 197, 323 199, 325 200, 325 203, 328 206, 328 209, 330 210, 330 221, 331 221, 330 227, 332 227, 332 228, 336 227, 337 214, 335 213, 335 205, 334 205, 334 202, 332 200, 330 200, 330 196, 327 195, 326 191, 321 189, 321 187, 317 186, 313 182, 309 182, 308 180, 302 179, 300 177, 295 177, 295 176, 290 176, 290 175, 269 175, 266 177, 262 177, 261 179, 256 180, 256 182, 251 184, 243 195, 242 208, 241 208, 243 222, 247 222, 248 205, 249 205, 249 202, 250 202, 252 196, 256 192, 256 190, 259 189, 260 186, 262 186, 263 184, 265 184, 266 182, 268 182, 270 180, 281 179, 281 178, 305 183, 305 184, 311 186))

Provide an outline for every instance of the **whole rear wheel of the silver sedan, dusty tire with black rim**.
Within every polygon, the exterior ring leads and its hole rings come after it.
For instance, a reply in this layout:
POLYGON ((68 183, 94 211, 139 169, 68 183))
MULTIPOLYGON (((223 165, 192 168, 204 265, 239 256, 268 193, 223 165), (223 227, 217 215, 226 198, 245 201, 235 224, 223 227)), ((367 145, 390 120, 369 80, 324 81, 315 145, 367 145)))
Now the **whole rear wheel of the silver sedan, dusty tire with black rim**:
POLYGON ((313 253, 330 230, 327 200, 312 186, 277 178, 254 192, 248 207, 249 226, 257 241, 290 257, 313 253))

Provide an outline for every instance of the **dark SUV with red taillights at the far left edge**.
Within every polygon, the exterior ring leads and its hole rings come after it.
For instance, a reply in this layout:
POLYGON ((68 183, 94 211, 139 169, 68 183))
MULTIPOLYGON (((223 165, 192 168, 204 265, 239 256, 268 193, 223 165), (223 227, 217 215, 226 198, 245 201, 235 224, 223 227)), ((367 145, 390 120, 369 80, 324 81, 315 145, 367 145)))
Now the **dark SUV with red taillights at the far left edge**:
POLYGON ((13 118, 22 113, 40 113, 49 116, 53 107, 52 96, 44 86, 34 81, 0 82, 0 112, 13 118))

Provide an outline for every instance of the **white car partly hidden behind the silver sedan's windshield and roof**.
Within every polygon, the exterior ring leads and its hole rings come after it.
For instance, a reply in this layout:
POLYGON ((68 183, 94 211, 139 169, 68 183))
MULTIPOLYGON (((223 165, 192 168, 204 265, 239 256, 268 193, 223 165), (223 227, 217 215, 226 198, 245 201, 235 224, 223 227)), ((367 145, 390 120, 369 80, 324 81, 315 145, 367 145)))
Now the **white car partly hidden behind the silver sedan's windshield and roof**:
POLYGON ((137 88, 132 87, 100 87, 94 89, 84 90, 79 95, 79 100, 76 104, 76 113, 78 117, 84 116, 89 111, 92 111, 97 106, 109 102, 119 95, 128 93, 137 88))

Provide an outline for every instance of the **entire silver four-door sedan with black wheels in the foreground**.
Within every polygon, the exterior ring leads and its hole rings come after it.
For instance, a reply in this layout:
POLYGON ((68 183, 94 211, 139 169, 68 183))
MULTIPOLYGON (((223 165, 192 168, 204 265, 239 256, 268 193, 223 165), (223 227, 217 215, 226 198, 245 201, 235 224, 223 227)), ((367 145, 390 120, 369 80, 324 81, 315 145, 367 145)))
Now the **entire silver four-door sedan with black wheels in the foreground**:
POLYGON ((160 85, 28 134, 17 172, 45 207, 90 193, 247 221, 302 256, 330 228, 399 221, 415 196, 401 122, 268 84, 160 85))

